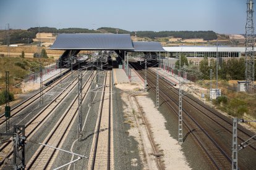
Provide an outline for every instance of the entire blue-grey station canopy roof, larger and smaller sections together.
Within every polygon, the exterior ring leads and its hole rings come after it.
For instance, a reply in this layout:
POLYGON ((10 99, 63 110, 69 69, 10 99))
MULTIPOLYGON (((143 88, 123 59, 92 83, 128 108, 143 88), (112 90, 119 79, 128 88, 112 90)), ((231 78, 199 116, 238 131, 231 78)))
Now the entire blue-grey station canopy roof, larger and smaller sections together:
POLYGON ((163 52, 160 42, 135 41, 130 34, 59 34, 50 49, 163 52))

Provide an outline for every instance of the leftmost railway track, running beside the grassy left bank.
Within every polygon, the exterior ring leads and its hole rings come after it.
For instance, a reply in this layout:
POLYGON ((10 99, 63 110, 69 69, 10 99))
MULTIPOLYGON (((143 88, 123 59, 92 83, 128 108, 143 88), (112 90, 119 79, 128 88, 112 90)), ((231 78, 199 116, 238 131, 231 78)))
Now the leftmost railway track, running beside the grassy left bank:
MULTIPOLYGON (((49 84, 49 86, 47 86, 45 89, 43 89, 43 94, 49 92, 51 89, 53 89, 54 86, 58 85, 64 79, 67 79, 70 76, 70 74, 71 74, 71 72, 69 71, 69 73, 62 76, 62 79, 58 79, 57 81, 54 81, 53 83, 49 84)), ((46 79, 46 81, 48 81, 48 79, 46 79)), ((44 81, 44 82, 46 82, 46 81, 44 81)), ((36 92, 36 94, 32 95, 31 97, 24 100, 23 102, 19 103, 19 105, 16 105, 15 107, 11 108, 10 123, 12 121, 12 118, 14 118, 15 116, 18 116, 22 110, 24 110, 25 108, 28 108, 30 105, 32 105, 32 103, 36 102, 36 100, 40 100, 40 91, 36 92)), ((5 119, 4 114, 2 114, 0 116, 0 127, 4 123, 6 123, 6 119, 5 119)))

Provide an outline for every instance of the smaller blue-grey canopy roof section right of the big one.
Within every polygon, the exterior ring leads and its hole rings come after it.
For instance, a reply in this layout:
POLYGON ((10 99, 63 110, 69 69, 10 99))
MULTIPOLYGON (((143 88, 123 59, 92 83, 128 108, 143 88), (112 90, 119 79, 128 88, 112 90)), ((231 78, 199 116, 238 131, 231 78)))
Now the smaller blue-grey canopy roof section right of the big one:
POLYGON ((165 51, 160 42, 134 41, 134 51, 137 52, 163 52, 165 51))

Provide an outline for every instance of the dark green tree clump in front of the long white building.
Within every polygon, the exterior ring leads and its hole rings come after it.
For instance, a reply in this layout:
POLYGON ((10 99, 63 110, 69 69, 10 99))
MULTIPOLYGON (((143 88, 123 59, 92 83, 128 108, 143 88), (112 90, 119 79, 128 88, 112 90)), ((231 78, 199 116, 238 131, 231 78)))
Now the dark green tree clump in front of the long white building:
MULTIPOLYGON (((213 75, 216 75, 216 61, 211 59, 210 63, 208 58, 205 57, 199 64, 199 70, 202 73, 203 79, 210 79, 210 69, 213 71, 213 75)), ((230 59, 223 61, 218 67, 218 76, 221 79, 245 79, 245 59, 230 59)))

